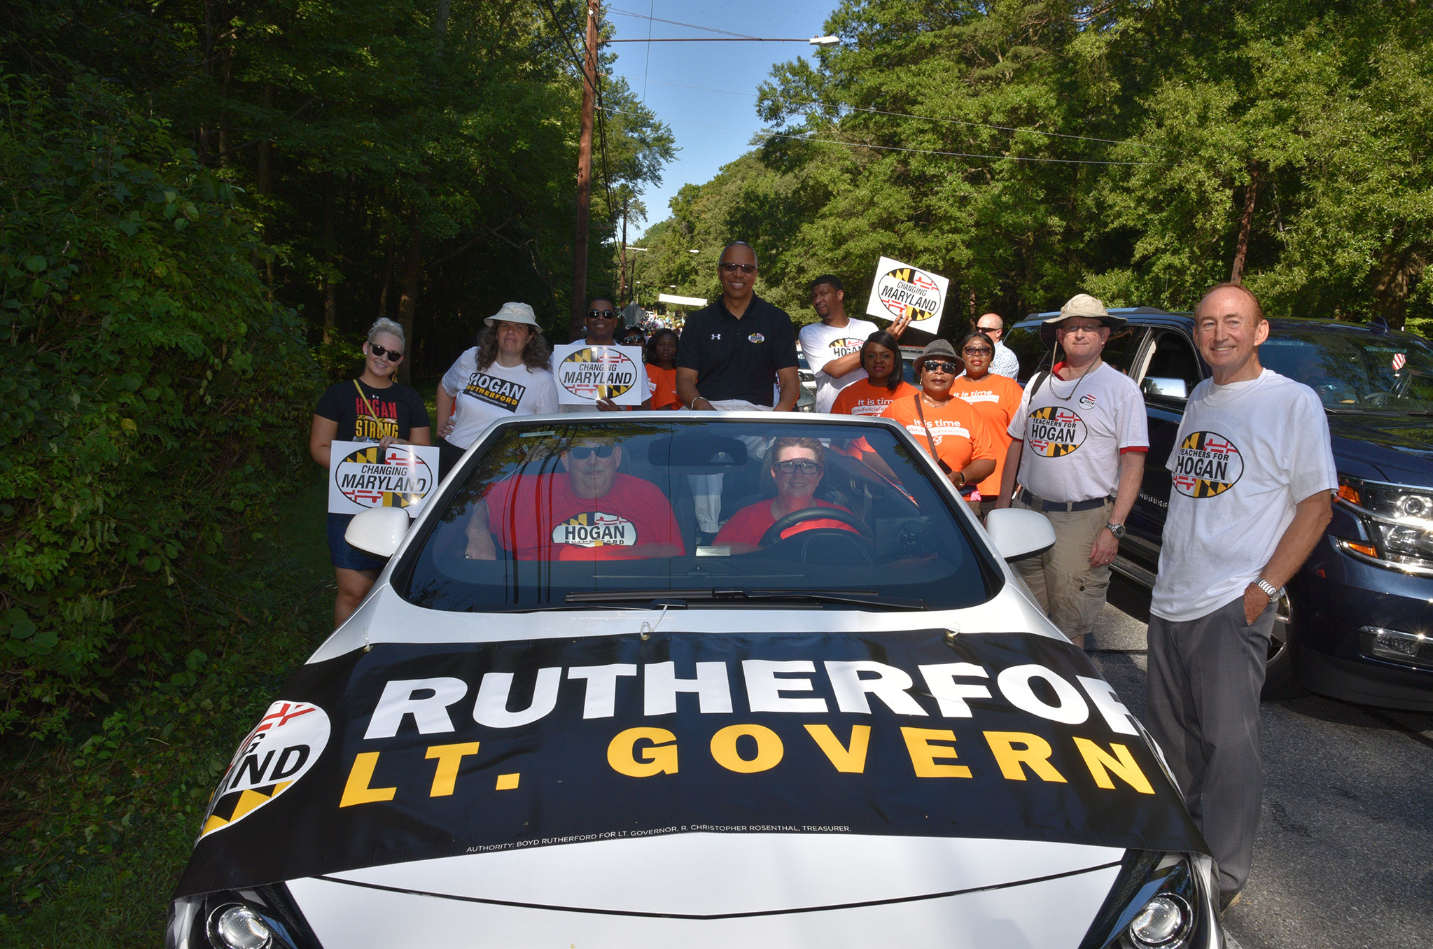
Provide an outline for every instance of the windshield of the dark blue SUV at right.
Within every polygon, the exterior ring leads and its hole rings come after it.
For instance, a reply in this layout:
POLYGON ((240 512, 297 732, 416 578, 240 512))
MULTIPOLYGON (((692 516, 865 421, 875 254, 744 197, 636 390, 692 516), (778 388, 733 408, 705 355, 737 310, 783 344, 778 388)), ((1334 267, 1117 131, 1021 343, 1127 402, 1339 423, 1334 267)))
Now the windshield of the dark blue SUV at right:
POLYGON ((1275 324, 1258 358, 1311 387, 1330 409, 1433 411, 1433 347, 1406 333, 1275 324))

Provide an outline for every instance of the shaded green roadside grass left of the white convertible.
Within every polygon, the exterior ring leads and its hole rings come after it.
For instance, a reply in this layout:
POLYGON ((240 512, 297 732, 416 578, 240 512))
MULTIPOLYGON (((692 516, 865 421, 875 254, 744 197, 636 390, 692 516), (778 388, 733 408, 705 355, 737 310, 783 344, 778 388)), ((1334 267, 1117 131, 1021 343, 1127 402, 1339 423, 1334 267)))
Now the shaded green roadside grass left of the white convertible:
MULTIPOLYGON (((324 480, 193 601, 193 651, 140 658, 63 741, 0 750, 0 945, 163 943, 165 912, 211 791, 292 667, 332 625, 324 480)), ((129 668, 129 667, 126 667, 129 668)))

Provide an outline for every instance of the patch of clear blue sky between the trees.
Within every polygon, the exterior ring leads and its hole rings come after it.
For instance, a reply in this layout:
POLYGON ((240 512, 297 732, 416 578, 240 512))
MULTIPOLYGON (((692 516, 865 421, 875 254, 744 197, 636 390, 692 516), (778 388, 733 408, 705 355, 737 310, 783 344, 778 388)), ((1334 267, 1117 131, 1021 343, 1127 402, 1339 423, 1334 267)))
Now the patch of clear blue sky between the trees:
MULTIPOLYGON (((762 37, 811 37, 825 33, 825 19, 838 0, 612 0, 603 16, 616 27, 615 39, 716 36, 643 17, 679 20, 698 26, 762 37)), ((751 149, 751 135, 761 129, 757 119, 757 86, 770 79, 777 63, 810 56, 804 43, 615 43, 612 72, 623 76, 632 92, 656 118, 666 122, 681 151, 666 165, 661 188, 648 188, 646 222, 628 232, 635 239, 642 229, 668 216, 668 201, 688 183, 702 183, 727 162, 751 149), (643 82, 645 77, 645 82, 643 82), (691 89, 688 86, 702 86, 691 89), (711 92, 722 89, 729 92, 711 92), (745 93, 745 95, 731 95, 745 93)))

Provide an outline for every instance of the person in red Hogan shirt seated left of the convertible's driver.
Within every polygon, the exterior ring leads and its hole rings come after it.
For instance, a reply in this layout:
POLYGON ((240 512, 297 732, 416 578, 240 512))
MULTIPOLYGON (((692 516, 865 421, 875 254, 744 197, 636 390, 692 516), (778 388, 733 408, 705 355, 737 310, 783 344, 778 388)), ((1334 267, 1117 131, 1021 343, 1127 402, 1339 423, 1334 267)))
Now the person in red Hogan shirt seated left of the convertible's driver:
POLYGON ((615 439, 579 437, 566 470, 514 475, 493 485, 467 523, 464 555, 493 561, 629 561, 685 553, 666 496, 622 475, 615 439))

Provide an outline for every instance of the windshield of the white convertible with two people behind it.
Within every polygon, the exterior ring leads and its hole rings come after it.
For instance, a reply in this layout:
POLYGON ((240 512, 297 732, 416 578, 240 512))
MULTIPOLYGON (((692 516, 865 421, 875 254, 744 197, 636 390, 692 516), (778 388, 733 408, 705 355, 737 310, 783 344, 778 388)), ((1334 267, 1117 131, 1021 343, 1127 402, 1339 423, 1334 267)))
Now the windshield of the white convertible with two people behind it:
POLYGON ((394 588, 447 611, 967 606, 1002 573, 949 492, 900 436, 841 420, 519 421, 444 490, 394 588))

